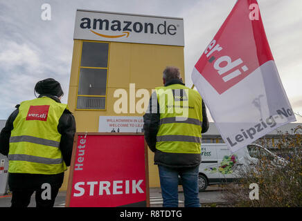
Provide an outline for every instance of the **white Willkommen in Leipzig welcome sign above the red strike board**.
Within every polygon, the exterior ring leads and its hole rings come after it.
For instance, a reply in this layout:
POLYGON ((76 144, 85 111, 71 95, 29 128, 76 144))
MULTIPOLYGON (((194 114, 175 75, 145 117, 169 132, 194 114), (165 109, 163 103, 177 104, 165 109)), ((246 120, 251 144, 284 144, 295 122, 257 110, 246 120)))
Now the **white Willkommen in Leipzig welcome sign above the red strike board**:
POLYGON ((142 133, 143 117, 100 116, 98 120, 100 133, 142 133))

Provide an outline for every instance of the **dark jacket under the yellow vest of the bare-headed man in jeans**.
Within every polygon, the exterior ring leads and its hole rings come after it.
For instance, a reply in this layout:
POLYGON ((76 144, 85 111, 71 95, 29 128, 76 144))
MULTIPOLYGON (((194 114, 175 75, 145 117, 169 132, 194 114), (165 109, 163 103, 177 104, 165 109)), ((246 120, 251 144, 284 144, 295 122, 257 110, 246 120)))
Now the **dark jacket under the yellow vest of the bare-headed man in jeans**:
MULTIPOLYGON (((172 84, 182 84, 180 79, 173 79, 166 82, 165 86, 172 84)), ((157 113, 152 113, 152 96, 149 102, 149 113, 143 116, 143 129, 145 133, 145 141, 147 142, 150 150, 154 152, 154 164, 167 166, 171 168, 189 168, 198 166, 201 162, 201 155, 196 153, 164 153, 157 150, 157 132, 159 131, 160 113, 159 102, 157 102, 157 113)), ((208 117, 206 115, 206 106, 202 100, 202 131, 208 131, 208 117)))

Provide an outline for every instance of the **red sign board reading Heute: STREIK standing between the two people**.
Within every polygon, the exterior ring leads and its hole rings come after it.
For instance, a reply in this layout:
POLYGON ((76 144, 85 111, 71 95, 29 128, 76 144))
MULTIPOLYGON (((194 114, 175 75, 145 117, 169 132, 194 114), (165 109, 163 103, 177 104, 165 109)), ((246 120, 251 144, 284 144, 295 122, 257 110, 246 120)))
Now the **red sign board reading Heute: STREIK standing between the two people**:
POLYGON ((66 206, 146 206, 143 135, 78 135, 66 206))

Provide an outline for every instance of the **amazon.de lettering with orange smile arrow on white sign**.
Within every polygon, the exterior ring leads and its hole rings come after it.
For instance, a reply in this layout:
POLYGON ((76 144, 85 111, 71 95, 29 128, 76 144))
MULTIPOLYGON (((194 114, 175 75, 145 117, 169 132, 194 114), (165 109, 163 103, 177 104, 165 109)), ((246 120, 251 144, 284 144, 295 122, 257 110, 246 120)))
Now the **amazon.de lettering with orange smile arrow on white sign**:
POLYGON ((88 29, 94 35, 99 37, 115 39, 120 37, 129 37, 130 33, 144 33, 153 35, 176 35, 177 26, 164 20, 161 23, 140 21, 120 21, 114 19, 90 19, 83 17, 80 19, 80 28, 88 29), (101 31, 101 32, 100 32, 101 31), (118 32, 115 34, 114 32, 118 32))

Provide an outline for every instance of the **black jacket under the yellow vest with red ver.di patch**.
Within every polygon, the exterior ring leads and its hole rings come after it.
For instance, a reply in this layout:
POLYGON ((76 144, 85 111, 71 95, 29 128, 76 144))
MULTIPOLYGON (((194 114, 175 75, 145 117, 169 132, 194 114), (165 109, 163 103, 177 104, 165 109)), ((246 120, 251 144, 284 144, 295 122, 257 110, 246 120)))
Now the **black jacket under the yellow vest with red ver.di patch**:
MULTIPOLYGON (((52 95, 40 95, 39 97, 50 97, 55 102, 60 103, 60 99, 52 95)), ((0 133, 0 153, 8 155, 10 148, 10 133, 13 129, 13 122, 19 114, 19 104, 16 110, 12 112, 6 122, 6 126, 0 133)), ((71 153, 73 148, 73 137, 75 135, 75 119, 70 111, 65 109, 64 113, 59 119, 57 131, 61 134, 60 150, 62 152, 63 160, 66 166, 70 166, 71 153)), ((39 189, 43 183, 51 184, 51 186, 60 187, 64 179, 64 172, 54 175, 44 174, 28 174, 28 173, 9 173, 8 186, 10 191, 22 189, 39 189)))

